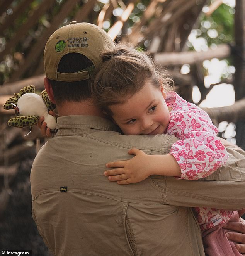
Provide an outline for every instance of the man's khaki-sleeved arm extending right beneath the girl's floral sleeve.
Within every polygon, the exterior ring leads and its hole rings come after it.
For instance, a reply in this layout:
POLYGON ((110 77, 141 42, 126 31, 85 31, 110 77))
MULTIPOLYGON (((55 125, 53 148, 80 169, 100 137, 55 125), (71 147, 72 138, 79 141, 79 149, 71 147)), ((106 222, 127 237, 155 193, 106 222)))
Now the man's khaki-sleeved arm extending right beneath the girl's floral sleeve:
POLYGON ((164 189, 163 200, 184 207, 211 207, 226 210, 245 208, 245 152, 227 147, 225 166, 207 178, 190 181, 151 176, 164 189))

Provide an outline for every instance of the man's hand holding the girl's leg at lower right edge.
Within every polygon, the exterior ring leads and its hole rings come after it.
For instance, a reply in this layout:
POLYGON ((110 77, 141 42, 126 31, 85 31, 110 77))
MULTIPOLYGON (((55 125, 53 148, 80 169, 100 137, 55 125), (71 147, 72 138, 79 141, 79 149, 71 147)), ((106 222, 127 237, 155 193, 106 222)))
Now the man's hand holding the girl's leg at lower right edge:
MULTIPOLYGON (((238 211, 239 216, 245 213, 245 209, 238 211)), ((228 240, 237 243, 235 246, 242 255, 245 255, 245 220, 242 218, 237 222, 228 221, 223 228, 232 230, 233 232, 226 232, 228 240)))

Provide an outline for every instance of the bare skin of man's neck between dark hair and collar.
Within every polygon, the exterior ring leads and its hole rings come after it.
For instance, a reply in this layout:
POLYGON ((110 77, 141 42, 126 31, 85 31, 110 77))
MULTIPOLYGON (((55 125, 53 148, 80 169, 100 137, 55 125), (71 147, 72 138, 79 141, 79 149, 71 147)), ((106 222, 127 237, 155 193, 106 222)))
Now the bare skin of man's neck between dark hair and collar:
POLYGON ((64 102, 61 106, 57 106, 59 116, 100 116, 104 114, 93 104, 92 100, 84 100, 82 102, 64 102))

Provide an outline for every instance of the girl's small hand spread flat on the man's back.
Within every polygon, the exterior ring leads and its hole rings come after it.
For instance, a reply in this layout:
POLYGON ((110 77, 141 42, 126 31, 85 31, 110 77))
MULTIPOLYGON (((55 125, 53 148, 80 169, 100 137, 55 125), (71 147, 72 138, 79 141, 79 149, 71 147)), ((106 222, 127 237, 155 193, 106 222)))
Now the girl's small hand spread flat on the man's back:
POLYGON ((107 168, 116 169, 104 172, 108 180, 117 181, 118 184, 130 184, 145 180, 150 176, 151 156, 148 156, 139 149, 130 149, 128 154, 135 155, 130 160, 107 163, 107 168))

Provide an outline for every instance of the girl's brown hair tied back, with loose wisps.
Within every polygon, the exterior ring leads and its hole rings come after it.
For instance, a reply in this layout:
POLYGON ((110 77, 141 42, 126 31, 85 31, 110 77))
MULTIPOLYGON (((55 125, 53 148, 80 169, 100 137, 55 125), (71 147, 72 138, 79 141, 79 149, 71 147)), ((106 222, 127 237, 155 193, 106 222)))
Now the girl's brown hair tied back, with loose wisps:
POLYGON ((91 93, 95 104, 112 115, 110 105, 121 104, 139 92, 150 79, 154 86, 169 90, 173 81, 155 69, 155 64, 145 52, 126 43, 102 52, 102 66, 94 77, 91 93))

